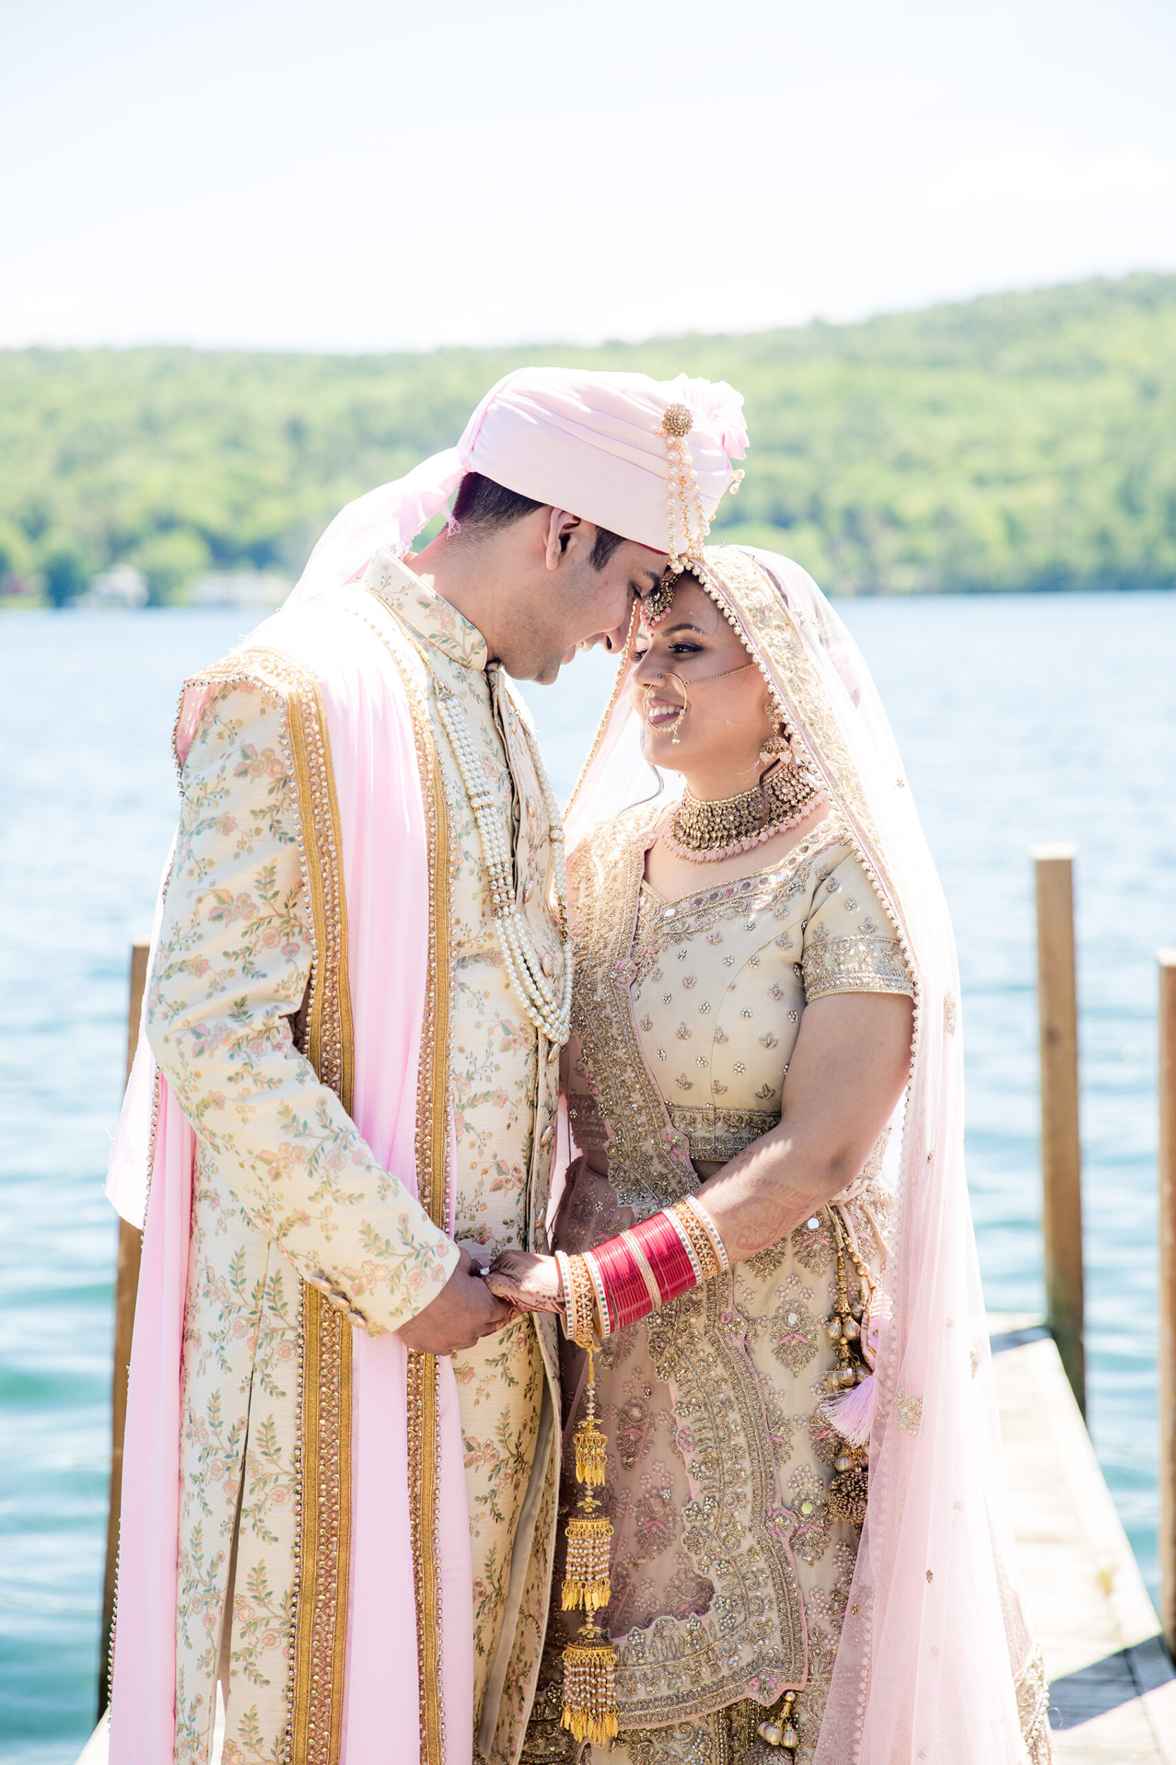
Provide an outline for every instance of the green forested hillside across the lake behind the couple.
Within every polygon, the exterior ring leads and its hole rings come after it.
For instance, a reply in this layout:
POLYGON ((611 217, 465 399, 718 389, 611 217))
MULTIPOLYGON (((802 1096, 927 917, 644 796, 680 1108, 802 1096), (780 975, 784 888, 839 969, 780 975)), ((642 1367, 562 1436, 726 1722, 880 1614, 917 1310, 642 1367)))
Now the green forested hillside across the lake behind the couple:
POLYGON ((1176 275, 599 349, 0 351, 0 577, 293 574, 524 362, 730 379, 751 452, 723 537, 836 593, 1176 584, 1176 275))

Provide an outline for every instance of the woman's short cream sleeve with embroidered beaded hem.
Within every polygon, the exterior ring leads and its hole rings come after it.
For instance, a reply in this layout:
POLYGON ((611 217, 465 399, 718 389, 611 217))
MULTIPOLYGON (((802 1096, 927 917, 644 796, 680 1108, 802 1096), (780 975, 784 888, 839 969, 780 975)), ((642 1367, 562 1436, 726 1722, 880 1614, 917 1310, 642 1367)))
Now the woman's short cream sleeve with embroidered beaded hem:
POLYGON ((915 995, 890 916, 853 852, 818 875, 800 971, 809 1004, 834 992, 915 995))

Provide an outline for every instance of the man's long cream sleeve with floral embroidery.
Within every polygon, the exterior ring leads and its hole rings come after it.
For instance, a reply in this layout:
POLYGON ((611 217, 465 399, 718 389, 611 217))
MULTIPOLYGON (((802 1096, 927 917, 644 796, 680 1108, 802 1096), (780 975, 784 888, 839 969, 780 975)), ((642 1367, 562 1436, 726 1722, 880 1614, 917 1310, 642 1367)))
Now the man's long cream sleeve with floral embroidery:
POLYGON ((284 706, 219 688, 183 768, 148 995, 155 1059, 257 1230, 372 1334, 437 1296, 458 1260, 294 1047, 310 978, 284 706))

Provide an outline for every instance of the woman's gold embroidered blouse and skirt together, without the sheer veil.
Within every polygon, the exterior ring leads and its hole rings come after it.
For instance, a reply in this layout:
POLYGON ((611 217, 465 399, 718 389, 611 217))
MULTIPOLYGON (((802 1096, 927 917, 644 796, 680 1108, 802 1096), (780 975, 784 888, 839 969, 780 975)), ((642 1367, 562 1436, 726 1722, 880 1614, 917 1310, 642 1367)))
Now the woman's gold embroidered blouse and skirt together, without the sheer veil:
MULTIPOLYGON (((822 819, 758 875, 663 902, 642 881, 658 819, 622 815, 573 870, 568 1112, 577 1145, 608 1175, 587 1156, 569 1172, 555 1232, 568 1251, 675 1200, 689 1163, 726 1161, 776 1126, 808 1001, 912 992, 894 927, 839 822, 822 819), (663 1147, 656 1163, 642 1156, 649 1144, 663 1147)), ((834 1202, 875 1274, 889 1205, 880 1153, 834 1202)), ((615 1527, 608 1631, 621 1744, 635 1765, 742 1758, 763 1705, 785 1687, 808 1689, 795 1721, 799 1760, 813 1758, 857 1553, 857 1528, 827 1502, 841 1447, 820 1410, 836 1363, 825 1329, 834 1303, 836 1239, 822 1209, 599 1356, 615 1527)), ((564 1363, 571 1430, 584 1356, 568 1343, 564 1363)), ((562 1636, 552 1641, 562 1647, 562 1636)), ((547 1696, 540 1721, 557 1726, 559 1687, 547 1696)))

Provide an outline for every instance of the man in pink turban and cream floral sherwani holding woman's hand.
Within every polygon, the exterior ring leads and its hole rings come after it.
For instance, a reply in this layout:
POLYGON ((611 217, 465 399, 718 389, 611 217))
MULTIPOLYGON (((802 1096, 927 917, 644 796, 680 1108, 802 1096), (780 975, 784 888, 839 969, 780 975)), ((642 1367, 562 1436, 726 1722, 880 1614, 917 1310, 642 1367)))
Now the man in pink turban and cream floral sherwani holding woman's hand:
POLYGON ((185 687, 139 1055, 116 1765, 206 1765, 219 1698, 227 1765, 517 1760, 557 1370, 552 1320, 510 1322, 480 1274, 547 1248, 571 965, 504 676, 622 648, 732 480, 739 402, 508 376, 185 687))

